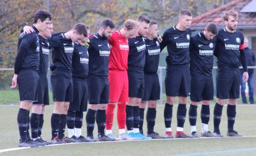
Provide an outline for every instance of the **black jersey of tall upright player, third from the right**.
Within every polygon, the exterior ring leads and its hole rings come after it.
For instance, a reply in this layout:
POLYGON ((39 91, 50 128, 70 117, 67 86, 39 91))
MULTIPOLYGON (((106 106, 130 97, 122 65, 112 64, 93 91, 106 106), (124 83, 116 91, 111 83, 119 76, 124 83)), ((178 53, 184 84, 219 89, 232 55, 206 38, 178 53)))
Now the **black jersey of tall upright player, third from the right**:
POLYGON ((191 29, 180 31, 175 26, 170 27, 162 36, 160 43, 161 51, 167 46, 168 56, 166 57, 169 66, 184 66, 189 64, 189 44, 191 29))

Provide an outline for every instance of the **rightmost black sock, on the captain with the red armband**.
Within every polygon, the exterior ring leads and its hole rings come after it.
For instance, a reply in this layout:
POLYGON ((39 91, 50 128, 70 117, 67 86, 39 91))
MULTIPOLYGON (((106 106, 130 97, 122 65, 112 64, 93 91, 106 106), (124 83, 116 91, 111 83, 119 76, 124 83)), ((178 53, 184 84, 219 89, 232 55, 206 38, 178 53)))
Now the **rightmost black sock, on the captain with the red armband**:
POLYGON ((234 130, 234 124, 235 124, 235 115, 237 112, 235 111, 235 105, 227 105, 227 129, 228 132, 234 130))

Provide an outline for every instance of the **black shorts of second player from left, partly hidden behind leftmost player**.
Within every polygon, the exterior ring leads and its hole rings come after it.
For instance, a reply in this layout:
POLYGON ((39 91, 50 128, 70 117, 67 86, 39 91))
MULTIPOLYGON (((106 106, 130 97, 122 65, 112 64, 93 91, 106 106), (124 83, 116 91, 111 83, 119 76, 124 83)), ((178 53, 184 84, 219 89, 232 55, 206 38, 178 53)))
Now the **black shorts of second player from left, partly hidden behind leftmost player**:
POLYGON ((48 90, 48 81, 46 75, 39 75, 40 80, 38 84, 37 91, 37 101, 33 104, 44 104, 49 105, 49 90, 48 90))

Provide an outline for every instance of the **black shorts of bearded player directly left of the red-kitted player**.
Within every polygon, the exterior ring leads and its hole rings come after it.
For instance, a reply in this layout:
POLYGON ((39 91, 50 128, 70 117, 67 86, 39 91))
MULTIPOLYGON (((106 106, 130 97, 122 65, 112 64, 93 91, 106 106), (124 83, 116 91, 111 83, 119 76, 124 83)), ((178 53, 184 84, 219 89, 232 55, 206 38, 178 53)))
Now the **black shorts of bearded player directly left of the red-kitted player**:
POLYGON ((109 103, 109 77, 89 74, 87 78, 89 104, 109 103))

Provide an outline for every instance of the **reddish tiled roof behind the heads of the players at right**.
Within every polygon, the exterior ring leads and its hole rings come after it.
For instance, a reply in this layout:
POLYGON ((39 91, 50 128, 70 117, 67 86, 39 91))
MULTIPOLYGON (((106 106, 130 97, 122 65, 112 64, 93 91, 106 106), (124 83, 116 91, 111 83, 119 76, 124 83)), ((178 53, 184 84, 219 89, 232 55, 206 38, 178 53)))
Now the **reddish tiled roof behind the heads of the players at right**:
POLYGON ((239 11, 238 29, 256 29, 256 12, 240 12, 245 6, 250 6, 250 2, 253 1, 255 0, 235 0, 205 12, 192 19, 190 28, 192 30, 202 30, 209 22, 214 22, 217 26, 224 27, 224 12, 234 9, 239 11))

